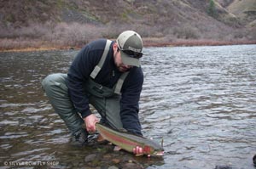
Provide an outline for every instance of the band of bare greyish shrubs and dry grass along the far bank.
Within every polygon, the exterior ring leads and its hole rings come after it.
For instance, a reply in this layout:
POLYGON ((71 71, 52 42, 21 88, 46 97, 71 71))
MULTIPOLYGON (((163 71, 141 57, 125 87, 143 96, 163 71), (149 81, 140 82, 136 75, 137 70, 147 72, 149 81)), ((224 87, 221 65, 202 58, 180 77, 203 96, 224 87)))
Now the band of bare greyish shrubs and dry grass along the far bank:
MULTIPOLYGON (((202 35, 200 30, 193 25, 186 24, 183 27, 161 29, 148 25, 90 25, 67 24, 58 25, 31 25, 17 29, 0 29, 0 51, 15 50, 46 50, 81 48, 84 44, 97 38, 118 37, 121 31, 135 30, 142 35, 145 46, 195 46, 195 45, 224 45, 255 43, 248 41, 246 33, 237 31, 234 37, 217 37, 216 34, 202 35)), ((253 31, 250 31, 253 32, 253 31)), ((251 39, 255 34, 248 34, 251 39)), ((255 39, 255 38, 254 38, 255 39)))

